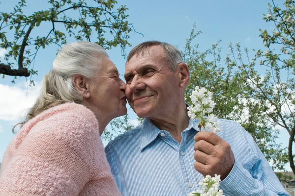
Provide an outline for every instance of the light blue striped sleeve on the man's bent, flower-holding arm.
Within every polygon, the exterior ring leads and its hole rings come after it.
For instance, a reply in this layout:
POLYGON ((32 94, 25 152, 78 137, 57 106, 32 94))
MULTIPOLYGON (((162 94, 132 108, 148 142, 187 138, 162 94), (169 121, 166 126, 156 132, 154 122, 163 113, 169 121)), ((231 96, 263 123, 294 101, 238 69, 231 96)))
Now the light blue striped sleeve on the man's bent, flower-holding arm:
POLYGON ((235 160, 232 171, 220 183, 220 189, 223 190, 224 195, 290 196, 284 190, 252 136, 244 129, 243 132, 254 155, 253 167, 251 170, 247 170, 243 167, 243 164, 235 160))

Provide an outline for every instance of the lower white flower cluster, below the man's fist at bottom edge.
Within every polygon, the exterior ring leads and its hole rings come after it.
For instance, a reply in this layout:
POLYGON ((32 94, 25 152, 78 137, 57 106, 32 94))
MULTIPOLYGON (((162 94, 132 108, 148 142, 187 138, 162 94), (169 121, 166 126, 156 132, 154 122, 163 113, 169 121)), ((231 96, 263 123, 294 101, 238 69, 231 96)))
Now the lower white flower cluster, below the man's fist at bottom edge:
POLYGON ((216 175, 215 177, 211 177, 207 175, 199 185, 203 188, 203 190, 199 189, 197 192, 189 193, 187 196, 224 196, 223 191, 219 189, 220 185, 220 175, 216 175))

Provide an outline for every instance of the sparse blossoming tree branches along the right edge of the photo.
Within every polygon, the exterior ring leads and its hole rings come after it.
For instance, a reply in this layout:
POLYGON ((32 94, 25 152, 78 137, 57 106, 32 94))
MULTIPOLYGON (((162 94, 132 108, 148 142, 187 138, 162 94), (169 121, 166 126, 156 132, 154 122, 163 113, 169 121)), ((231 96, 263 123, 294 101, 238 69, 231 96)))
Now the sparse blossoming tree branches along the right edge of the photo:
MULTIPOLYGON (((295 142, 295 1, 286 0, 284 8, 279 8, 272 0, 268 4, 268 14, 264 20, 273 22, 275 30, 268 33, 261 30, 266 51, 258 50, 248 64, 242 65, 241 74, 247 79, 249 98, 255 99, 266 114, 268 123, 284 128, 290 135, 288 158, 292 171, 295 173, 294 155, 292 151, 295 142), (279 49, 279 51, 277 51, 279 49), (267 68, 265 75, 255 71, 255 65, 267 68)), ((237 51, 240 52, 239 46, 237 51)), ((248 54, 247 49, 245 50, 248 54)), ((249 58, 248 58, 249 59, 249 58)))

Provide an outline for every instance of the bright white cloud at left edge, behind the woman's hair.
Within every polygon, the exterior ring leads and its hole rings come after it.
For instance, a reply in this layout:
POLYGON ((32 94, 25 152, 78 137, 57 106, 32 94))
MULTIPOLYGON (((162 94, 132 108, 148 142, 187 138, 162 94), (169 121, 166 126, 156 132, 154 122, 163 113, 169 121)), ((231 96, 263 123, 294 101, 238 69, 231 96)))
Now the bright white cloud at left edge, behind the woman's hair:
POLYGON ((35 82, 34 87, 27 83, 0 84, 0 120, 15 122, 24 117, 25 112, 34 104, 39 96, 41 83, 35 82))

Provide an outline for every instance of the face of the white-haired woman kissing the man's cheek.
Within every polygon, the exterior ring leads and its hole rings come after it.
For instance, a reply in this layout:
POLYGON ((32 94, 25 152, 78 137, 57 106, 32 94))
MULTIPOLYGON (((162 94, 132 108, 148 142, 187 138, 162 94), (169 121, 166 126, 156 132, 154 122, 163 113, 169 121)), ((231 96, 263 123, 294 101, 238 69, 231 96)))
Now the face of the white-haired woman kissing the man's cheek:
POLYGON ((111 121, 127 113, 126 84, 119 78, 116 66, 108 57, 102 57, 100 71, 89 84, 88 103, 98 121, 111 121))

